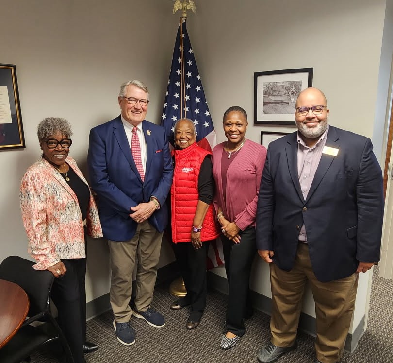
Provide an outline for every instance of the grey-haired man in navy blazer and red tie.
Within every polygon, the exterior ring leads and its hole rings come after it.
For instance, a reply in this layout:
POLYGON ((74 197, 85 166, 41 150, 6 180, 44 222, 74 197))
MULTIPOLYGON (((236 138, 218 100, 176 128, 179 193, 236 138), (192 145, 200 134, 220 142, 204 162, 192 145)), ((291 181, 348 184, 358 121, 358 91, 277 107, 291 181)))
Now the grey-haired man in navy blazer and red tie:
POLYGON ((153 327, 165 325, 153 298, 161 240, 167 225, 165 200, 173 167, 164 128, 145 120, 149 94, 140 81, 125 82, 118 97, 121 115, 90 131, 90 182, 108 239, 112 269, 110 302, 117 339, 135 343, 131 316, 153 327), (135 306, 129 302, 137 259, 135 306))

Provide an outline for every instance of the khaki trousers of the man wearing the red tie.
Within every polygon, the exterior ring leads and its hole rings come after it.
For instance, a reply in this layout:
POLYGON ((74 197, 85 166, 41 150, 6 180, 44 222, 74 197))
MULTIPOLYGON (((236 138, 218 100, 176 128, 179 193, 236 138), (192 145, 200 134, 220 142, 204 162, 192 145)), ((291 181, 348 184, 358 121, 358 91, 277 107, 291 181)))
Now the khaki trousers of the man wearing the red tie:
POLYGON ((110 302, 115 321, 131 319, 129 302, 132 294, 132 274, 138 260, 135 286, 135 309, 147 311, 153 299, 160 258, 163 232, 158 232, 148 221, 138 223, 135 236, 128 241, 108 240, 112 269, 110 302))

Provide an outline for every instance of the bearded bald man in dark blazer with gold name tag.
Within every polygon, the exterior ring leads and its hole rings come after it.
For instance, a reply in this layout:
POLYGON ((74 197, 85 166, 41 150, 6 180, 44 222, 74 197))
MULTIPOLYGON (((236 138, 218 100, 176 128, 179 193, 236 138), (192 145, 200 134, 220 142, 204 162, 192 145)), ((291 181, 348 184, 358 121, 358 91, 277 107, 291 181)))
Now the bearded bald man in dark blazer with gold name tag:
POLYGON ((370 139, 328 125, 316 88, 296 101, 298 131, 271 142, 257 209, 257 247, 270 264, 271 341, 260 362, 295 349, 306 281, 315 302, 315 362, 338 362, 358 277, 379 261, 382 173, 370 139))

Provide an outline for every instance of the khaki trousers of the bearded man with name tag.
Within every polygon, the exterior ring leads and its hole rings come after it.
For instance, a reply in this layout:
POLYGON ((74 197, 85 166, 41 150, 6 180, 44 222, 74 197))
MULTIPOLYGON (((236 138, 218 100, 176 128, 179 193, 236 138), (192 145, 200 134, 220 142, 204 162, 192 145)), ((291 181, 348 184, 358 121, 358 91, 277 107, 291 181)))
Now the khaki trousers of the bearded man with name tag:
POLYGON ((358 276, 354 273, 339 280, 318 281, 311 268, 306 243, 298 244, 295 265, 291 271, 281 270, 272 263, 272 343, 280 347, 295 344, 302 297, 306 281, 309 281, 315 301, 316 357, 324 363, 338 362, 344 350, 355 306, 358 276))

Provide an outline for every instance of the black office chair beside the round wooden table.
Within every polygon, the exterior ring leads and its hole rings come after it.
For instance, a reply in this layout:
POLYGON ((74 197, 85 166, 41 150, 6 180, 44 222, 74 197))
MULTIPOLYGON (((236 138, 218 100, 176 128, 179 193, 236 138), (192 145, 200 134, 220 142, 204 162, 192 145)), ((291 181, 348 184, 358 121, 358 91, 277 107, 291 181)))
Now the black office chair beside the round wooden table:
POLYGON ((19 256, 9 256, 1 262, 0 278, 19 285, 29 296, 28 318, 16 335, 0 349, 0 362, 19 363, 38 347, 60 341, 67 362, 73 363, 66 338, 50 311, 50 291, 54 276, 48 270, 32 268, 34 262, 19 256), (34 327, 33 322, 44 322, 34 327))

